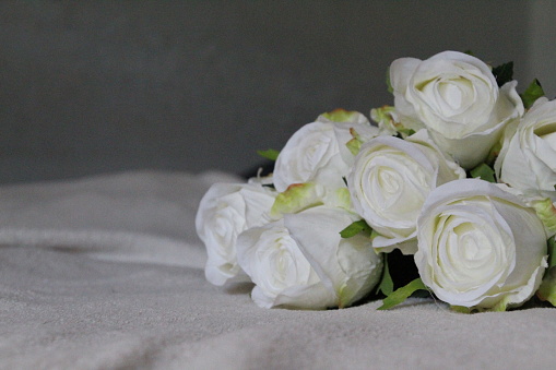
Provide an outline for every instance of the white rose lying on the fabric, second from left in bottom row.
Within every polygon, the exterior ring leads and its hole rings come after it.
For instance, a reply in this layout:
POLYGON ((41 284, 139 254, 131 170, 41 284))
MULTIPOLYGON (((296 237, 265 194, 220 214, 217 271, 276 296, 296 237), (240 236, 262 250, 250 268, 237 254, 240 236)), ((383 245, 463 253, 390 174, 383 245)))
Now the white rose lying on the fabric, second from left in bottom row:
POLYGON ((238 261, 256 284, 253 301, 263 308, 326 309, 367 295, 380 278, 381 256, 365 236, 340 237, 356 219, 341 208, 316 206, 244 231, 238 261))

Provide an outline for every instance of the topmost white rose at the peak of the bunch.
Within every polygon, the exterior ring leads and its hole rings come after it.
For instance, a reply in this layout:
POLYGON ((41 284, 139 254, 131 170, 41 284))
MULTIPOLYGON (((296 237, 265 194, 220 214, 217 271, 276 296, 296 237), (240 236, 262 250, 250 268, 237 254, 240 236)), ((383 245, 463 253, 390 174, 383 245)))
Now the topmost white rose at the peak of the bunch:
POLYGON ((390 82, 402 124, 429 130, 464 168, 483 162, 508 122, 523 115, 517 82, 498 88, 490 68, 462 52, 394 60, 390 82))

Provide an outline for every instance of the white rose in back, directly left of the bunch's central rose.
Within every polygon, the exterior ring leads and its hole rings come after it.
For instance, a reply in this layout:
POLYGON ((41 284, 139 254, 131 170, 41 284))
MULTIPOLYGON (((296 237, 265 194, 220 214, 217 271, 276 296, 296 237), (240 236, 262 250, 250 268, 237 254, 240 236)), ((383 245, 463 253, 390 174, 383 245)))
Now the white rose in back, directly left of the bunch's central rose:
POLYGON ((316 122, 305 124, 289 138, 274 166, 277 191, 304 182, 321 183, 331 189, 345 186, 342 177, 350 170, 350 160, 353 162, 345 146, 353 139, 350 130, 366 132, 371 126, 362 114, 344 112, 346 115, 340 118, 331 114, 319 116, 316 122))

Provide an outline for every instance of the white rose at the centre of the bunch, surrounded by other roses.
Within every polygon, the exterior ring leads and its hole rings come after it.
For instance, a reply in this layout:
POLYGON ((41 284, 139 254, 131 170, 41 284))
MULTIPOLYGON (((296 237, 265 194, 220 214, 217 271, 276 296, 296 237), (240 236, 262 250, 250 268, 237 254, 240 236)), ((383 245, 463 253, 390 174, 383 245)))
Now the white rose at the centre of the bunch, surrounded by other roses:
POLYGON ((416 251, 416 222, 428 193, 465 171, 438 150, 426 130, 401 140, 378 136, 364 144, 347 177, 355 211, 379 236, 375 248, 416 251))

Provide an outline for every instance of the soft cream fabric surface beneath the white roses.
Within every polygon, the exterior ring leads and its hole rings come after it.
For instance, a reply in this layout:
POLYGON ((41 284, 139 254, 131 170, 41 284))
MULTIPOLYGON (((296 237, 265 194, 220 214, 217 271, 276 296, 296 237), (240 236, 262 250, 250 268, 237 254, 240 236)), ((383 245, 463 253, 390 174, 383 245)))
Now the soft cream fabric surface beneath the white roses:
POLYGON ((556 309, 411 299, 265 310, 204 279, 198 203, 223 174, 0 188, 2 369, 547 369, 556 309))

